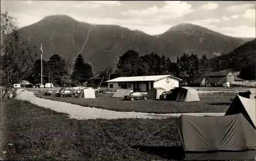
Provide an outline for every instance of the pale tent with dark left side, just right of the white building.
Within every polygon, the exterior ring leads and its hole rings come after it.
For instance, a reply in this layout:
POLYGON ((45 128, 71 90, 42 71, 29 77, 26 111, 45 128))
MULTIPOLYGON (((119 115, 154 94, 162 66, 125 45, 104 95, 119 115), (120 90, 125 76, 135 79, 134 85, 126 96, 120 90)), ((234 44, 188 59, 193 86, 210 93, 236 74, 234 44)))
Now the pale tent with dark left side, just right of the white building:
POLYGON ((184 101, 184 102, 192 102, 192 101, 200 101, 197 89, 191 87, 178 87, 172 91, 172 99, 173 101, 184 101))

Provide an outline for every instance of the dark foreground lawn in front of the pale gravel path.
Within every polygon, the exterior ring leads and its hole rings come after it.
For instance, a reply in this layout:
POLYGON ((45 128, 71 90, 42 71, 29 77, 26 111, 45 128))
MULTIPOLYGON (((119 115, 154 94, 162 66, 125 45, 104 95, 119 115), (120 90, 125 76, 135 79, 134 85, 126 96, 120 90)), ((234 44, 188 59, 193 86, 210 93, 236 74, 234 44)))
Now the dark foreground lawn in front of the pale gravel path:
POLYGON ((75 120, 14 99, 1 109, 0 155, 5 160, 181 160, 184 152, 173 121, 75 120))

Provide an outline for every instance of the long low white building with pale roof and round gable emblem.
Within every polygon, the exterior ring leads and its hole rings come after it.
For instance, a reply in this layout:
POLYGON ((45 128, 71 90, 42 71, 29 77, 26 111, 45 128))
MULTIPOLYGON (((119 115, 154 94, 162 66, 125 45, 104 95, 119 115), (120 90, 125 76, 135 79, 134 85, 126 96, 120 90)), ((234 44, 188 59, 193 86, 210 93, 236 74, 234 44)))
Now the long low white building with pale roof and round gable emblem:
POLYGON ((161 87, 166 91, 179 87, 179 81, 182 79, 172 75, 160 76, 136 76, 136 77, 119 77, 108 82, 108 88, 116 91, 117 89, 131 89, 133 91, 147 92, 151 88, 161 87))

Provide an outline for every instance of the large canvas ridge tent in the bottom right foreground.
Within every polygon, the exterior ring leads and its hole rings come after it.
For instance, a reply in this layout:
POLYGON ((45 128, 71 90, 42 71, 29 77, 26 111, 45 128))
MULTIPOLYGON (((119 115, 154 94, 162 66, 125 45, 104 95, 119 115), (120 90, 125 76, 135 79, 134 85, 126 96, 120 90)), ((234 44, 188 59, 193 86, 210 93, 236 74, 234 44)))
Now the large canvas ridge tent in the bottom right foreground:
POLYGON ((186 160, 255 158, 255 130, 242 113, 219 117, 182 114, 176 124, 186 160))

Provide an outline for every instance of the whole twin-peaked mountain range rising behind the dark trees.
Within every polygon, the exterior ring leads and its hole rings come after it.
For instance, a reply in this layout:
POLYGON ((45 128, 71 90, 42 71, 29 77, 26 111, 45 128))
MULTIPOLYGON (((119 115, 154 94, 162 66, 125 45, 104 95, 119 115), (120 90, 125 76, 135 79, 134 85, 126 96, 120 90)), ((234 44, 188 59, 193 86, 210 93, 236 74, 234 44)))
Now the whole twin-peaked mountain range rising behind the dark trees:
POLYGON ((59 54, 65 59, 74 59, 79 53, 88 62, 94 72, 103 67, 116 68, 119 56, 127 50, 135 50, 141 55, 156 52, 172 60, 183 53, 227 54, 243 44, 245 40, 222 35, 196 26, 193 32, 191 24, 181 24, 170 28, 157 36, 147 35, 138 30, 130 30, 115 25, 91 25, 79 22, 67 15, 47 16, 30 26, 20 29, 30 45, 35 45, 34 52, 40 58, 40 43, 43 46, 43 59, 59 54))

